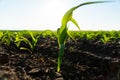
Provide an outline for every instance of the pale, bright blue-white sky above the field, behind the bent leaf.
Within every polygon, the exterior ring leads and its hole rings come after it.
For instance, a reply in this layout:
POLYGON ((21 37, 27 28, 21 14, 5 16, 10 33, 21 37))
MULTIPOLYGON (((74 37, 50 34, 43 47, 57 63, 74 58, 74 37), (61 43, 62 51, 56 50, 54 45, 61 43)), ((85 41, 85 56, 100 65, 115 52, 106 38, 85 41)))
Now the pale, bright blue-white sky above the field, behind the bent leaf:
MULTIPOLYGON (((0 30, 57 30, 68 9, 87 1, 96 0, 0 0, 0 30)), ((73 18, 81 30, 120 30, 120 0, 82 6, 73 18)))

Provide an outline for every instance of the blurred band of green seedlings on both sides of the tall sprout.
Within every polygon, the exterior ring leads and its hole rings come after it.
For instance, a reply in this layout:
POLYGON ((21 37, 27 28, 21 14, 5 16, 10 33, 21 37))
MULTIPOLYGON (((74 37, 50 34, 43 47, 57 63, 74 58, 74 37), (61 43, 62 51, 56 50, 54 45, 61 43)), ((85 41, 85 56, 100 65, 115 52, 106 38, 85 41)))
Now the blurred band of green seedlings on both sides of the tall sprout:
MULTIPOLYGON (((74 39, 95 40, 102 43, 120 39, 120 31, 70 31, 74 39)), ((0 44, 9 45, 15 43, 18 47, 21 41, 29 44, 31 49, 36 45, 39 37, 57 38, 57 32, 51 30, 45 31, 0 31, 0 44), (28 38, 31 37, 31 41, 28 38)), ((68 38, 69 39, 69 38, 68 38)))

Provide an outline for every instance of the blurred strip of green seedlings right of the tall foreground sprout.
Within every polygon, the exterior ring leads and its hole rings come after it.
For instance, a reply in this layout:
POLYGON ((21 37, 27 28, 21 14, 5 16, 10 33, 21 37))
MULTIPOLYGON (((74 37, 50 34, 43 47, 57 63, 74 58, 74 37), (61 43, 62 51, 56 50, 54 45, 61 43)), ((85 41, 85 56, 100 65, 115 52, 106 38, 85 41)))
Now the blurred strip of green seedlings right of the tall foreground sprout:
POLYGON ((71 35, 82 40, 99 40, 104 44, 120 40, 120 31, 72 31, 71 35))

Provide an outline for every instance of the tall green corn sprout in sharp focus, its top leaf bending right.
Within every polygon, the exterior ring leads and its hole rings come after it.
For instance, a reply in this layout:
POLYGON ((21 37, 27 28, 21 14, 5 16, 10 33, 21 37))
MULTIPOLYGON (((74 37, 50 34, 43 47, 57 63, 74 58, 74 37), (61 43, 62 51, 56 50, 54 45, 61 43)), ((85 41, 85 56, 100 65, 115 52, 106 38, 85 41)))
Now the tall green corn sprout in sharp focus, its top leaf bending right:
POLYGON ((61 27, 57 31, 57 33, 58 33, 57 34, 58 35, 58 44, 59 44, 59 49, 60 49, 59 52, 58 52, 57 72, 60 72, 62 56, 63 56, 64 49, 65 49, 65 40, 67 39, 67 37, 71 37, 72 38, 72 36, 68 32, 67 23, 69 21, 71 21, 80 30, 80 27, 79 27, 78 23, 76 22, 76 20, 72 18, 73 11, 76 10, 77 8, 81 7, 81 6, 84 6, 84 5, 96 4, 96 3, 105 3, 105 2, 107 2, 107 1, 85 2, 85 3, 79 4, 79 5, 75 6, 75 7, 72 7, 71 9, 69 9, 64 14, 64 16, 62 18, 61 27))

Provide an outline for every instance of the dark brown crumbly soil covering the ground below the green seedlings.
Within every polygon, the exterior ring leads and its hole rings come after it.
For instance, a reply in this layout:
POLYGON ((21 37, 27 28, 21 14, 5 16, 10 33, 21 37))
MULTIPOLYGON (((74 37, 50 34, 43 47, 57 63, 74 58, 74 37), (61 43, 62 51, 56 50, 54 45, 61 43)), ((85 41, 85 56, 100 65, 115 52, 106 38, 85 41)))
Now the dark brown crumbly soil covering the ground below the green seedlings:
POLYGON ((59 73, 58 51, 57 39, 50 37, 40 37, 32 53, 1 44, 0 80, 120 80, 120 39, 68 40, 59 73))

